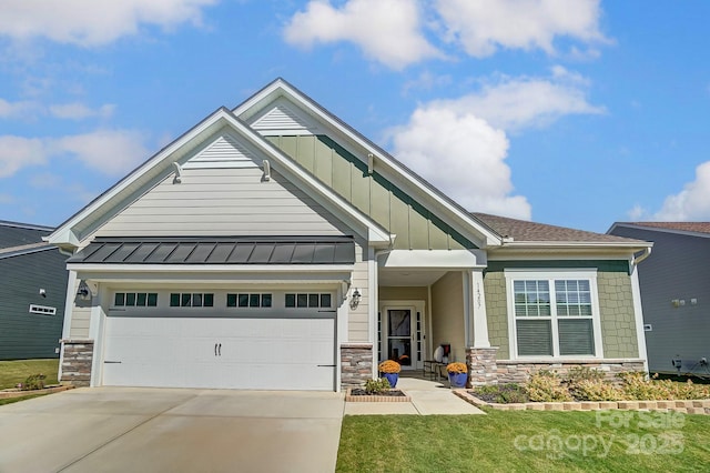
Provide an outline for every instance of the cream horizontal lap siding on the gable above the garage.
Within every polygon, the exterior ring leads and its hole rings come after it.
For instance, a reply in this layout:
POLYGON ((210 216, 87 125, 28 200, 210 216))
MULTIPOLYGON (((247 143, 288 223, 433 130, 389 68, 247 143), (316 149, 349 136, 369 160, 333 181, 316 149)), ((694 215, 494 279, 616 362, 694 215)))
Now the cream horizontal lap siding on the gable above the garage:
POLYGON ((95 236, 341 235, 332 213, 276 172, 184 169, 101 227, 95 236))

